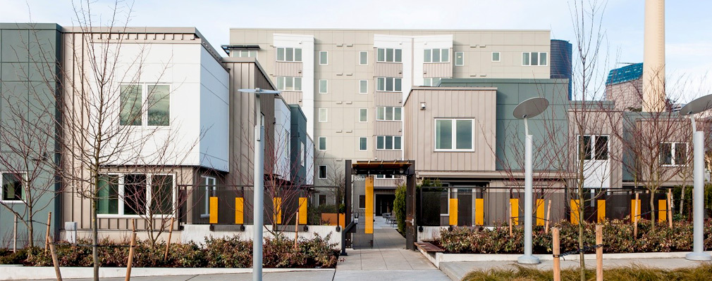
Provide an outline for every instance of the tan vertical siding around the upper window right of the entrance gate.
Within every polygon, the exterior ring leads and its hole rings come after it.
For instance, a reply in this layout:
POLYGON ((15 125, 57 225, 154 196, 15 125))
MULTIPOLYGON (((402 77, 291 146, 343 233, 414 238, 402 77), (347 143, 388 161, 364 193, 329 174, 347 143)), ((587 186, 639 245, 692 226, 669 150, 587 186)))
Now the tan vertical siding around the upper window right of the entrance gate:
POLYGON ((415 160, 417 170, 495 170, 495 89, 416 87, 404 106, 404 118, 405 159, 415 160), (420 108, 422 102, 426 104, 425 110, 420 108), (436 152, 436 118, 474 119, 474 151, 436 152))

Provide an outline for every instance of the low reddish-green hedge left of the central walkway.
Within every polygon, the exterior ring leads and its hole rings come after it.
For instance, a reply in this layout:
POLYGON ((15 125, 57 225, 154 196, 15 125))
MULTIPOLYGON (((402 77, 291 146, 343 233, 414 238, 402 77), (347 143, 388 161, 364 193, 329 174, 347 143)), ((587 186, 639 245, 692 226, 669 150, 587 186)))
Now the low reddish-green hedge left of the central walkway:
MULTIPOLYGON (((294 240, 285 236, 266 238, 263 243, 263 266, 265 268, 335 268, 338 259, 336 244, 329 243, 330 235, 316 236, 310 240, 300 239, 297 248, 294 240)), ((91 241, 77 241, 90 245, 91 241)), ((116 243, 107 239, 100 241, 99 258, 102 267, 125 267, 129 248, 127 242, 116 243)), ((151 247, 148 241, 137 241, 133 266, 137 268, 250 268, 252 266, 252 241, 231 238, 206 238, 204 247, 195 243, 172 243, 168 258, 164 260, 165 243, 151 247)), ((90 267, 92 248, 58 244, 56 246, 60 266, 90 267)), ((27 249, 16 254, 0 251, 0 263, 31 266, 52 266, 49 252, 41 248, 27 249), (22 252, 22 254, 20 254, 22 252)))

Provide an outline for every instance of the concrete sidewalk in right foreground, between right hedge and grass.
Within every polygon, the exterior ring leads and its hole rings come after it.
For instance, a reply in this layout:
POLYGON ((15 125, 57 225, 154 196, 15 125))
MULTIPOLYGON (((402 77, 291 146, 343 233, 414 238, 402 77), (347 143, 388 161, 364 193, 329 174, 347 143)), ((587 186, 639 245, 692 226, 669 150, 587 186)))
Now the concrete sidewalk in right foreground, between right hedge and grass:
MULTIPOLYGON (((543 260, 542 263, 538 265, 523 265, 528 268, 536 268, 538 270, 551 270, 552 269, 551 260, 543 260)), ((603 268, 617 268, 626 266, 641 266, 648 268, 658 268, 665 270, 674 270, 678 268, 694 268, 699 265, 708 264, 712 262, 697 262, 692 260, 686 260, 684 258, 648 258, 648 259, 610 259, 603 260, 603 268)), ((491 270, 495 268, 501 269, 514 269, 518 263, 512 261, 482 261, 482 262, 451 262, 451 263, 440 263, 440 270, 442 270, 451 280, 462 280, 467 273, 476 270, 491 270)), ((578 260, 562 260, 561 268, 578 268, 578 260)), ((586 268, 595 269, 596 260, 586 260, 586 268)))

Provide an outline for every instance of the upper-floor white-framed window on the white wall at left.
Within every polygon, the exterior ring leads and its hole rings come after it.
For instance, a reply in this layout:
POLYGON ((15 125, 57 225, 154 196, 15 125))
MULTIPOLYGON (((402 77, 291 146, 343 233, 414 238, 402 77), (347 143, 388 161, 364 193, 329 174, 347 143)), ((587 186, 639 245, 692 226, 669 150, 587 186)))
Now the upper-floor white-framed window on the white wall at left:
POLYGON ((122 126, 170 125, 171 98, 167 84, 122 84, 119 104, 122 126))

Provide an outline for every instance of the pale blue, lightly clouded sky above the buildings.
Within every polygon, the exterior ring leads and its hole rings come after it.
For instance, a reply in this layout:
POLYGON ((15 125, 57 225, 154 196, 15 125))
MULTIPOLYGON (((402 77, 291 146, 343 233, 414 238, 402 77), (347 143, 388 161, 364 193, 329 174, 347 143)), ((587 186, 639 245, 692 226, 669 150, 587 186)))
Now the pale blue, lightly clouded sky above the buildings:
MULTIPOLYGON (((77 0, 75 0, 77 1, 77 0)), ((125 1, 125 0, 124 0, 125 1)), ((108 18, 113 1, 96 0, 93 14, 108 18)), ((214 45, 229 43, 229 28, 548 29, 573 36, 567 0, 228 1, 135 0, 130 26, 195 26, 214 45)), ((666 2, 666 71, 690 77, 712 93, 712 1, 666 2)), ((643 60, 644 0, 609 0, 602 28, 609 67, 643 60)), ((76 23, 72 0, 0 0, 0 22, 76 23)), ((607 70, 602 70, 605 72, 607 70)), ((698 95, 701 93, 697 93, 698 95)))

